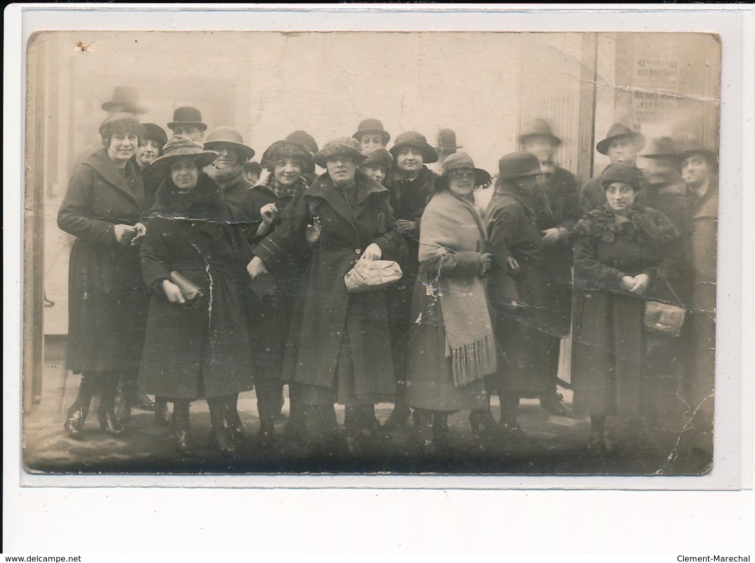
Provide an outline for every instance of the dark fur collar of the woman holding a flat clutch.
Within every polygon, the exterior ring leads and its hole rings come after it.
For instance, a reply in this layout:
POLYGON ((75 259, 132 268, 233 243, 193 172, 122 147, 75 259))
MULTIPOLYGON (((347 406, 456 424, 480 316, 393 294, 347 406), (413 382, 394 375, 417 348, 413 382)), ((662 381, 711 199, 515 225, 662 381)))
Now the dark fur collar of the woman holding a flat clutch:
POLYGON ((220 188, 202 171, 199 172, 196 187, 189 191, 177 189, 173 181, 166 178, 155 198, 156 203, 149 212, 149 217, 212 223, 226 223, 229 219, 229 211, 220 188))

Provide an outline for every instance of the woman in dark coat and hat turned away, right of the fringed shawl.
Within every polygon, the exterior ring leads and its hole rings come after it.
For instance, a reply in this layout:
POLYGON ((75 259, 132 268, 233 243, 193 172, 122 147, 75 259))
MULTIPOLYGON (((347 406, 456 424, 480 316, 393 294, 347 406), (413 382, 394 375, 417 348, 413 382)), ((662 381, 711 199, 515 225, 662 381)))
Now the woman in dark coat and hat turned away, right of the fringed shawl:
MULTIPOLYGON (((516 422, 519 399, 547 392, 555 368, 551 355, 559 336, 551 334, 548 296, 541 272, 541 239, 535 185, 540 162, 530 152, 513 152, 498 162, 495 193, 485 213, 494 256, 488 295, 495 311, 498 340, 497 377, 491 390, 501 399, 504 438, 521 439, 516 422), (513 257, 519 269, 513 269, 513 257)), ((470 417, 473 427, 475 421, 470 417)), ((485 423, 485 421, 482 421, 485 423)))

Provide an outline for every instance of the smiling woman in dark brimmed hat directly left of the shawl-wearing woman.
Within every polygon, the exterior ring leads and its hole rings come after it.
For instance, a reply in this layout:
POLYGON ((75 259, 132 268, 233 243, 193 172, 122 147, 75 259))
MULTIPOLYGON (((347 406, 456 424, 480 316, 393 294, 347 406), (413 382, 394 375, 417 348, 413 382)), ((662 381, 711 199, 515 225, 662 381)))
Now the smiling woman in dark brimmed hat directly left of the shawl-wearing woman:
POLYGON ((396 371, 396 407, 386 421, 387 429, 403 426, 411 411, 404 404, 404 367, 406 337, 411 325, 411 296, 414 280, 419 272, 420 217, 433 189, 433 180, 438 174, 427 168, 438 161, 438 153, 424 135, 417 131, 405 131, 396 137, 390 147, 395 164, 393 185, 390 187, 390 206, 396 214, 396 227, 404 236, 408 254, 402 266, 404 277, 387 289, 390 310, 390 335, 396 371))

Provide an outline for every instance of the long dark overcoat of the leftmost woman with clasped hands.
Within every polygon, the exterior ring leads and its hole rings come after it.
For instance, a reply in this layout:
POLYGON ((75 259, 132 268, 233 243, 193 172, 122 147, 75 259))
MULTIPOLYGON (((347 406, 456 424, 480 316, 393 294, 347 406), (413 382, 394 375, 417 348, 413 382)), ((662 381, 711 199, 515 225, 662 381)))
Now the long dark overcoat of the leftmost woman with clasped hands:
POLYGON ((138 248, 116 242, 116 224, 143 220, 144 189, 126 164, 122 175, 104 148, 71 177, 57 224, 74 235, 68 276, 68 355, 74 373, 139 366, 147 297, 138 248))

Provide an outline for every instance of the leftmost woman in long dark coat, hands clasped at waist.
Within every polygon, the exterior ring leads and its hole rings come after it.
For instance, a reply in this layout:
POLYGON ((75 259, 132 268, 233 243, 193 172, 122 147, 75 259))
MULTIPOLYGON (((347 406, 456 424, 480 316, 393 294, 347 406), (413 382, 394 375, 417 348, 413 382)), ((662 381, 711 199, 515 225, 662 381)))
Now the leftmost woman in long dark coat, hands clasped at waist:
POLYGON ((107 118, 100 125, 103 148, 75 171, 58 211, 60 229, 76 237, 66 369, 82 380, 64 425, 74 437, 81 435, 96 392, 100 426, 123 433, 115 414, 118 380, 131 379, 139 368, 147 308, 137 248, 145 230, 144 187, 129 159, 143 135, 131 114, 107 118))

